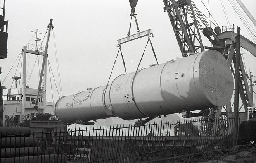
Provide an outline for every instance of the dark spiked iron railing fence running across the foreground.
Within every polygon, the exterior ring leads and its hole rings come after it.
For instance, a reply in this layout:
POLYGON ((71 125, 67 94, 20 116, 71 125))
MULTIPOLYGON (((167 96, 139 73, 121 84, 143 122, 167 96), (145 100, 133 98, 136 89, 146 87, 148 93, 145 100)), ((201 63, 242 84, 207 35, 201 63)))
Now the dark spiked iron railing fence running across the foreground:
MULTIPOLYGON (((239 118, 1 134, 0 162, 142 162, 236 145, 239 118)), ((13 127, 10 127, 13 128, 13 127)))

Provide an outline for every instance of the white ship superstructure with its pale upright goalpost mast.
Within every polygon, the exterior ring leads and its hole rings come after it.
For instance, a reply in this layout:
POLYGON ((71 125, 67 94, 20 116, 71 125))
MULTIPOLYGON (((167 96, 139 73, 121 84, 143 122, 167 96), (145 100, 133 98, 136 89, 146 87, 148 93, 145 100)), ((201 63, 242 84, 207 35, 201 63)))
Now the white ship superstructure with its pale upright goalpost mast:
POLYGON ((4 126, 29 126, 28 120, 39 120, 38 113, 49 113, 47 118, 40 118, 40 120, 49 120, 51 115, 54 115, 54 105, 53 102, 46 102, 46 55, 47 47, 43 49, 42 45, 38 47, 39 33, 38 29, 36 31, 31 31, 31 33, 36 34, 35 44, 30 46, 23 46, 22 48, 22 75, 12 77, 14 81, 14 88, 6 88, 2 86, 3 91, 3 121, 4 126), (42 71, 40 73, 40 81, 38 89, 30 88, 26 83, 27 75, 27 55, 41 55, 44 57, 45 62, 42 63, 42 71), (43 84, 41 85, 41 83, 43 84), (37 100, 38 99, 38 100, 37 100), (38 102, 36 102, 38 101, 38 102), (14 118, 14 123, 7 123, 10 119, 12 121, 14 118))

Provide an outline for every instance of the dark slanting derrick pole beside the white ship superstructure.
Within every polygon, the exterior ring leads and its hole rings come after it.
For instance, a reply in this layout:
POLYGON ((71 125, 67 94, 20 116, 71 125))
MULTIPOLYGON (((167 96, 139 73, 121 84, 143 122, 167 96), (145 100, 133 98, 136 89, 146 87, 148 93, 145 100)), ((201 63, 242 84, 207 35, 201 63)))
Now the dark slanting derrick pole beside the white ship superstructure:
MULTIPOLYGON (((43 55, 43 64, 42 64, 42 69, 41 69, 41 73, 40 73, 40 80, 39 80, 39 84, 38 84, 38 90, 37 90, 37 93, 36 93, 36 105, 34 106, 34 108, 36 108, 36 109, 38 108, 37 104, 38 104, 38 97, 39 97, 41 84, 42 84, 42 79, 43 79, 43 71, 45 70, 45 67, 46 67, 45 62, 46 62, 46 59, 47 59, 48 43, 49 43, 49 39, 50 39, 50 32, 51 32, 51 29, 52 29, 52 19, 50 19, 48 29, 49 29, 49 31, 48 31, 46 45, 45 45, 45 52, 44 52, 44 55, 43 55)), ((45 70, 45 72, 46 72, 46 70, 45 70)), ((46 76, 45 76, 45 78, 46 78, 46 76)), ((45 100, 45 99, 43 99, 43 100, 45 100)))

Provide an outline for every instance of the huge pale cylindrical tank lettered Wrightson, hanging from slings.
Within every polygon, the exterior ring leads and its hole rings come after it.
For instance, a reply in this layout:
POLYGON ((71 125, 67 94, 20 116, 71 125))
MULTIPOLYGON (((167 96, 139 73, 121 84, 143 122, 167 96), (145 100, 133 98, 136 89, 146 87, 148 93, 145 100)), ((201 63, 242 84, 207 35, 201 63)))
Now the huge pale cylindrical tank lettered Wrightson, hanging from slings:
POLYGON ((215 50, 120 75, 106 86, 60 98, 55 110, 65 123, 120 117, 133 120, 225 106, 233 79, 215 50))

